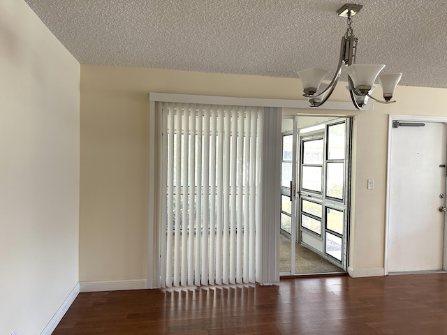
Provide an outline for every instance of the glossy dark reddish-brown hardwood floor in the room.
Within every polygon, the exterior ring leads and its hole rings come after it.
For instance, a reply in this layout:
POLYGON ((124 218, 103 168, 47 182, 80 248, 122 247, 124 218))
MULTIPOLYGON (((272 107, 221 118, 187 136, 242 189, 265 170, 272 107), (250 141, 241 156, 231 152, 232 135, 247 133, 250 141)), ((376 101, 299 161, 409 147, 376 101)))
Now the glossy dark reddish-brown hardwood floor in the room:
POLYGON ((53 334, 447 334, 447 274, 80 293, 53 334))

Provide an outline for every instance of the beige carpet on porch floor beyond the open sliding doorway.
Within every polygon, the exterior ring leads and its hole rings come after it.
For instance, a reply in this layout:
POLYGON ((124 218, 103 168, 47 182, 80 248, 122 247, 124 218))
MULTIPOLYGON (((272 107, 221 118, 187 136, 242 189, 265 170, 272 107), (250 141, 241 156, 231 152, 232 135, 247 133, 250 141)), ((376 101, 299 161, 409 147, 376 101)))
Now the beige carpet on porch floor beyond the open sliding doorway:
MULTIPOLYGON (((291 241, 283 234, 279 243, 279 271, 291 271, 291 241)), ((343 269, 324 260, 321 255, 295 244, 295 274, 330 274, 344 272, 343 269)))

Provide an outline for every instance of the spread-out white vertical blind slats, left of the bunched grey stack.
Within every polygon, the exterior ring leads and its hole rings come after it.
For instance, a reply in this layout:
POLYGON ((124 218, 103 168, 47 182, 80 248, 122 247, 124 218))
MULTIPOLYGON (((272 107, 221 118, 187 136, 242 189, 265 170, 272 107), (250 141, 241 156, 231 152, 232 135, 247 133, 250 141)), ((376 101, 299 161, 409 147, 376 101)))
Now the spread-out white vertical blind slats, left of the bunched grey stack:
POLYGON ((264 108, 157 103, 157 110, 161 287, 259 281, 264 108))

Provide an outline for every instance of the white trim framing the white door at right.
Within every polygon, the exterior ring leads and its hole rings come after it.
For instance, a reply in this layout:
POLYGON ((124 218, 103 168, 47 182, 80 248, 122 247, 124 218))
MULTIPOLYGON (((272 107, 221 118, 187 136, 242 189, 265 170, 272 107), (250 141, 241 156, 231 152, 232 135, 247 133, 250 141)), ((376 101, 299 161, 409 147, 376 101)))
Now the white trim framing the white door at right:
MULTIPOLYGON (((402 115, 390 114, 388 119, 388 156, 386 167, 386 214, 385 214, 385 250, 384 250, 384 268, 385 276, 388 275, 388 246, 389 246, 389 228, 390 228, 390 163, 391 163, 391 144, 393 143, 393 121, 413 121, 413 122, 434 122, 447 123, 447 117, 425 117, 420 115, 402 115)), ((445 248, 446 246, 444 246, 445 248)))

